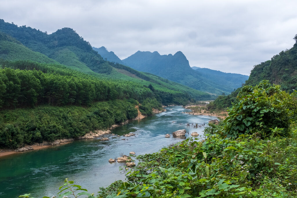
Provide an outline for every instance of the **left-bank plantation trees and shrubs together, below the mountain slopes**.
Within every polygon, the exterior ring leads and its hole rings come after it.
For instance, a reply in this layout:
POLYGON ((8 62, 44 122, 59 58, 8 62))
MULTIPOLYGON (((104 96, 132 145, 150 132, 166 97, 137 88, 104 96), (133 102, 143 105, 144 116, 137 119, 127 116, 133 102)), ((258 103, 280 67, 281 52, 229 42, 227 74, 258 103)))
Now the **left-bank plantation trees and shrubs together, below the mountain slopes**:
POLYGON ((139 103, 143 115, 152 115, 152 108, 189 99, 166 87, 102 79, 59 64, 0 61, 0 148, 77 138, 135 118, 139 103))

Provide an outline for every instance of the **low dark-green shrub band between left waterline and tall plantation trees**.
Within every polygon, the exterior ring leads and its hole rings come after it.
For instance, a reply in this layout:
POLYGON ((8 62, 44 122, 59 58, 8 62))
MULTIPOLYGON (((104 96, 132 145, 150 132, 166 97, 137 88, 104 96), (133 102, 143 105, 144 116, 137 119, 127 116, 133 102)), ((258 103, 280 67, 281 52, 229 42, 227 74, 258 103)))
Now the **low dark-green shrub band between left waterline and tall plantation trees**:
POLYGON ((34 109, 1 110, 0 148, 78 138, 137 115, 135 104, 125 100, 97 102, 89 107, 42 105, 34 109))

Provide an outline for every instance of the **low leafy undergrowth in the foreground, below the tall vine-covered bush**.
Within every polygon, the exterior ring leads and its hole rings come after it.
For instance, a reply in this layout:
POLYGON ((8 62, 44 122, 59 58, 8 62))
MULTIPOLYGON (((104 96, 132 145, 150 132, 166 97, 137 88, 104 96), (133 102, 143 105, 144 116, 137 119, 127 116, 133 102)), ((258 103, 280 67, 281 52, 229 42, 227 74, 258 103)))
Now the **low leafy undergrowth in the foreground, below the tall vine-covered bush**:
POLYGON ((296 138, 223 138, 220 129, 208 128, 203 142, 138 156, 127 181, 100 188, 98 197, 296 197, 296 138))

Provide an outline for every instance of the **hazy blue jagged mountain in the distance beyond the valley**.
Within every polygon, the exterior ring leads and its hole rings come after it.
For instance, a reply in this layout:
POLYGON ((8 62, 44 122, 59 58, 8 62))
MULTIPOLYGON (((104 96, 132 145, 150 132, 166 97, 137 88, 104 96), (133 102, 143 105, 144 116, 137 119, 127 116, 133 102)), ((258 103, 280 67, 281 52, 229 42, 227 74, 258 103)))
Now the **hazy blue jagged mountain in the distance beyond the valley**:
POLYGON ((191 88, 217 95, 230 94, 247 79, 247 76, 237 74, 229 78, 230 74, 219 71, 213 72, 215 77, 212 77, 208 70, 194 70, 181 51, 174 55, 160 55, 156 51, 153 53, 138 51, 122 61, 138 71, 150 72, 191 88))

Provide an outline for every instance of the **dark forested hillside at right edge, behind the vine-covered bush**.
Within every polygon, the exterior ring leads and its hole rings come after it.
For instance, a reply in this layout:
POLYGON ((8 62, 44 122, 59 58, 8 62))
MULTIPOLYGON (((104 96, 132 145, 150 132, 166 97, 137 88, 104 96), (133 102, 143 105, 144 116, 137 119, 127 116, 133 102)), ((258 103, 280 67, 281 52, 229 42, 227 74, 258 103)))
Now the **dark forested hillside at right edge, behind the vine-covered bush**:
MULTIPOLYGON (((255 65, 245 85, 255 86, 262 80, 281 85, 282 89, 293 92, 297 89, 297 34, 295 44, 289 50, 281 51, 271 60, 255 65)), ((241 88, 229 96, 219 96, 208 105, 208 110, 224 109, 232 106, 241 88)))

